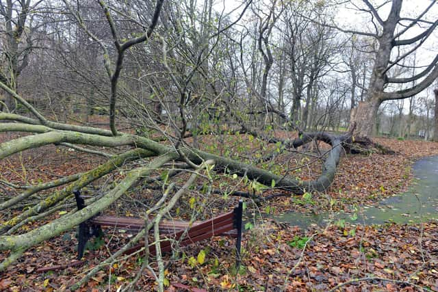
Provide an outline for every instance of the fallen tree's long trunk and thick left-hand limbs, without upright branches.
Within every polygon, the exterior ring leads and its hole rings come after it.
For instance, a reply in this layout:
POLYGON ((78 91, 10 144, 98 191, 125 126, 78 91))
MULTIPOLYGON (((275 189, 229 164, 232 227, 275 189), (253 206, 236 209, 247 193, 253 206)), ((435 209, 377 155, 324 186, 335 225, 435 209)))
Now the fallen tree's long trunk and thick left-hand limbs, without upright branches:
MULTIPOLYGON (((0 86, 6 88, 3 83, 0 83, 0 86)), ((13 92, 13 96, 16 97, 18 101, 23 102, 23 99, 15 92, 13 92)), ((29 110, 38 112, 25 102, 23 104, 26 105, 29 110)), ((127 172, 127 174, 118 181, 114 189, 83 210, 61 217, 58 220, 40 226, 28 233, 21 235, 2 235, 0 237, 0 250, 11 250, 10 256, 0 265, 0 269, 2 270, 15 261, 18 256, 23 254, 23 252, 31 246, 50 239, 51 237, 60 235, 64 231, 69 230, 84 220, 96 215, 96 213, 105 210, 110 204, 118 200, 120 196, 123 196, 123 194, 139 181, 140 178, 159 170, 164 163, 169 161, 185 161, 185 159, 189 159, 195 165, 201 165, 204 161, 214 161, 214 170, 216 171, 223 172, 224 170, 227 170, 227 172, 231 174, 246 176, 250 180, 257 181, 263 185, 275 185, 276 187, 290 191, 292 194, 302 194, 305 191, 325 191, 333 182, 336 173, 336 165, 339 163, 339 158, 343 152, 342 144, 350 142, 352 137, 351 132, 340 136, 330 135, 328 133, 303 133, 296 140, 287 142, 290 146, 295 148, 312 142, 313 140, 326 142, 331 145, 331 149, 327 152, 323 164, 322 174, 318 179, 315 181, 300 181, 287 176, 287 174, 283 176, 272 174, 271 172, 257 168, 254 165, 248 165, 240 161, 220 157, 197 149, 185 148, 179 152, 171 146, 166 146, 138 135, 120 134, 116 137, 110 137, 110 133, 100 129, 76 126, 72 126, 75 131, 73 131, 73 129, 68 131, 66 130, 69 127, 68 125, 62 125, 61 127, 59 124, 51 124, 51 127, 49 127, 37 124, 36 120, 26 120, 23 116, 5 113, 3 113, 0 118, 2 120, 14 121, 1 123, 1 132, 16 131, 32 134, 18 137, 14 140, 0 144, 1 159, 5 159, 6 157, 10 157, 15 153, 24 150, 38 148, 49 144, 57 145, 68 143, 80 144, 81 146, 99 146, 107 148, 125 146, 126 148, 123 152, 120 152, 118 155, 113 155, 110 159, 107 159, 105 163, 102 163, 89 172, 75 174, 49 183, 33 185, 22 194, 11 198, 7 202, 3 202, 0 206, 2 209, 5 209, 43 189, 50 189, 60 185, 64 187, 58 191, 53 191, 53 194, 38 202, 34 207, 23 211, 20 215, 16 215, 6 222, 3 222, 0 225, 0 230, 3 234, 13 226, 26 220, 28 217, 41 213, 42 211, 54 207, 57 203, 66 198, 72 197, 73 189, 86 187, 96 179, 129 163, 129 161, 140 161, 140 164, 142 165, 127 172), (27 121, 27 123, 25 123, 25 121, 27 121), (100 135, 97 134, 99 132, 101 132, 100 135), (149 160, 144 160, 146 157, 149 157, 149 160)))

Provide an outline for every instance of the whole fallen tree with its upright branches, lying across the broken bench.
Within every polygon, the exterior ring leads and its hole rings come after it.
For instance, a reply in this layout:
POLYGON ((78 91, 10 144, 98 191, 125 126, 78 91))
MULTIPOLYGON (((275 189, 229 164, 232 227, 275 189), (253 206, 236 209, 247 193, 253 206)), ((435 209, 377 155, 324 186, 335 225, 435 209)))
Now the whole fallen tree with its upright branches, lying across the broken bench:
MULTIPOLYGON (((162 135, 155 140, 151 136, 144 137, 143 135, 134 135, 129 132, 124 133, 116 127, 116 114, 118 113, 118 111, 116 111, 117 90, 120 89, 118 79, 122 70, 124 56, 125 53, 136 44, 148 42, 153 38, 153 29, 158 21, 163 1, 157 1, 151 25, 142 27, 144 31, 140 36, 131 37, 129 39, 120 38, 116 23, 112 18, 112 14, 109 12, 110 10, 104 1, 99 1, 101 8, 105 11, 107 23, 110 25, 112 38, 114 38, 116 47, 116 53, 114 53, 116 62, 114 62, 114 64, 110 62, 110 54, 107 51, 106 45, 103 44, 99 38, 94 36, 91 31, 88 31, 79 12, 74 11, 73 8, 68 5, 68 1, 64 1, 64 3, 79 26, 86 31, 90 39, 101 46, 104 52, 105 70, 107 71, 108 81, 110 82, 110 89, 108 90, 108 92, 110 92, 110 94, 108 94, 110 97, 110 131, 99 127, 55 122, 47 118, 47 114, 44 115, 42 111, 28 103, 25 98, 15 90, 11 89, 5 83, 0 82, 0 88, 9 96, 12 96, 17 103, 31 114, 31 117, 29 117, 20 114, 12 114, 10 112, 0 113, 0 120, 2 121, 0 123, 0 132, 19 134, 0 144, 0 159, 2 161, 27 150, 45 149, 44 147, 49 145, 67 147, 77 150, 77 152, 96 155, 99 157, 96 161, 101 161, 91 170, 70 174, 52 181, 44 181, 30 185, 26 185, 25 182, 17 183, 16 181, 0 182, 4 193, 12 190, 16 193, 16 196, 8 196, 8 198, 0 204, 0 211, 3 211, 3 222, 0 223, 0 250, 3 251, 3 254, 7 255, 3 262, 0 263, 0 271, 5 270, 9 265, 14 263, 14 261, 20 258, 29 248, 71 230, 88 218, 105 211, 105 209, 108 209, 114 205, 114 203, 118 202, 125 194, 135 191, 138 185, 153 184, 155 181, 159 181, 155 179, 156 177, 165 178, 162 179, 162 184, 157 188, 159 196, 143 210, 145 217, 152 215, 154 219, 147 224, 145 230, 142 230, 138 235, 133 237, 125 248, 116 252, 112 258, 109 258, 106 261, 107 263, 110 263, 118 254, 121 254, 123 250, 128 249, 131 245, 142 239, 152 228, 155 228, 154 236, 156 241, 158 241, 156 226, 158 226, 164 214, 168 213, 168 211, 175 206, 183 193, 192 187, 197 177, 202 178, 203 182, 207 185, 211 185, 211 172, 240 176, 246 178, 248 181, 265 185, 265 189, 275 187, 277 189, 283 189, 291 195, 303 194, 307 191, 326 191, 331 183, 333 183, 337 164, 346 146, 350 147, 350 144, 359 141, 357 137, 355 138, 353 136, 354 127, 344 135, 298 133, 298 138, 293 140, 281 140, 272 136, 268 137, 268 135, 260 133, 261 131, 253 131, 246 127, 246 132, 251 133, 253 137, 257 137, 267 143, 281 144, 281 151, 294 150, 314 141, 329 144, 330 148, 318 156, 318 159, 323 160, 322 171, 320 176, 313 181, 302 181, 298 178, 294 178, 287 170, 281 174, 274 173, 251 163, 242 162, 239 159, 231 159, 225 155, 216 155, 191 146, 185 140, 185 137, 188 137, 186 133, 189 131, 188 118, 190 115, 187 114, 188 103, 194 100, 194 97, 191 95, 192 92, 190 91, 190 86, 194 83, 192 78, 196 72, 203 70, 201 65, 203 65, 203 59, 208 56, 206 52, 210 50, 209 41, 218 38, 218 36, 231 27, 233 23, 225 27, 219 27, 219 32, 213 31, 211 35, 205 36, 206 41, 205 44, 203 44, 204 47, 196 58, 194 68, 190 70, 187 76, 183 76, 185 78, 174 76, 175 70, 171 70, 167 62, 166 54, 170 50, 166 49, 166 40, 161 38, 161 36, 155 36, 155 40, 159 40, 157 42, 162 45, 162 65, 166 73, 170 75, 170 79, 174 82, 173 86, 171 85, 169 88, 177 88, 177 96, 179 96, 177 117, 169 117, 170 121, 168 123, 172 126, 171 129, 174 130, 175 133, 170 134, 162 130, 157 124, 149 126, 151 128, 155 127, 155 133, 162 133, 162 135), (179 120, 177 120, 177 118, 179 120), (188 167, 192 168, 190 171, 192 175, 182 187, 173 193, 171 190, 175 185, 170 173, 181 171, 181 167, 179 167, 175 161, 184 163, 184 166, 188 165, 188 167), (94 195, 91 202, 88 202, 87 207, 79 211, 73 207, 73 191, 75 189, 83 189, 84 187, 92 186, 100 179, 107 178, 110 175, 114 177, 114 184, 105 190, 104 194, 101 196, 94 195), (32 201, 28 208, 21 209, 19 213, 14 214, 7 212, 29 199, 32 201), (69 213, 56 220, 47 220, 46 216, 59 210, 60 206, 69 206, 69 213), (31 230, 20 229, 24 224, 36 220, 41 221, 41 224, 33 226, 31 230)), ((248 8, 248 5, 250 5, 250 1, 246 4, 243 11, 248 8)), ((113 12, 116 13, 117 11, 113 10, 113 12)), ((123 14, 123 16, 125 15, 123 14)), ((209 52, 211 53, 211 51, 209 52)), ((155 93, 156 92, 154 92, 154 94, 155 93)), ((135 105, 138 104, 136 103, 135 105)), ((147 115, 151 114, 149 109, 145 111, 147 115)), ((233 116, 235 120, 238 120, 236 117, 239 116, 239 113, 234 113, 233 116)), ((135 120, 135 118, 131 118, 131 120, 135 120)), ((240 120, 238 120, 238 122, 240 122, 240 120)), ((196 187, 194 189, 196 189, 196 187)), ((214 189, 211 187, 207 187, 206 189, 207 196, 214 193, 214 189)), ((3 197, 5 197, 5 194, 3 194, 3 197)), ((18 207, 17 209, 20 208, 18 207)), ((159 252, 157 254, 159 254, 159 252)), ((146 261, 146 263, 147 262, 148 261, 146 261)), ((159 275, 156 278, 157 282, 159 282, 159 286, 162 287, 164 267, 160 258, 157 258, 157 262, 159 265, 159 275)), ((96 269, 92 272, 95 271, 96 269)), ((87 277, 89 278, 90 275, 92 274, 88 274, 87 277)))

